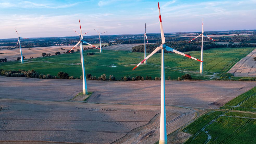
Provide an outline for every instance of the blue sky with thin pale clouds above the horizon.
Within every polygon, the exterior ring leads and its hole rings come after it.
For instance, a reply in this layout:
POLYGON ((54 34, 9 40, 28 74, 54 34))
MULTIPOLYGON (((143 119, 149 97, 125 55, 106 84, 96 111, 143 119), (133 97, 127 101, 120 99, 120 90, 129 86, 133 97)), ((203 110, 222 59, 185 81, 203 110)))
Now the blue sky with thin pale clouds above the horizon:
MULTIPOLYGON (((256 0, 159 0, 165 33, 256 29, 256 0)), ((0 0, 0 39, 160 33, 154 0, 0 0)))

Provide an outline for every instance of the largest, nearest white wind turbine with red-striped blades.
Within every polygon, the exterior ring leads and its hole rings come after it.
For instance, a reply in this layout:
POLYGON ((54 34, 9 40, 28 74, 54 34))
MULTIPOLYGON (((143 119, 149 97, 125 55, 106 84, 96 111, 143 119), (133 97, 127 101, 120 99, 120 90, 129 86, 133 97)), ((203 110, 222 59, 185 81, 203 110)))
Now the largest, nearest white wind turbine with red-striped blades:
POLYGON ((142 60, 137 66, 133 68, 133 70, 138 67, 141 63, 143 63, 145 60, 147 60, 149 57, 151 57, 153 54, 158 52, 160 49, 162 51, 162 62, 161 62, 161 114, 160 114, 160 136, 159 136, 159 144, 167 144, 167 136, 166 136, 166 117, 165 117, 165 74, 164 74, 164 49, 170 52, 174 52, 180 55, 183 55, 185 57, 201 61, 199 59, 196 59, 194 57, 191 57, 190 55, 184 54, 182 52, 176 51, 173 48, 170 48, 165 45, 165 37, 164 37, 164 30, 162 25, 162 19, 160 14, 160 7, 158 3, 158 11, 159 11, 159 20, 160 20, 160 29, 161 29, 161 39, 162 44, 157 47, 151 54, 149 54, 144 60, 142 60))

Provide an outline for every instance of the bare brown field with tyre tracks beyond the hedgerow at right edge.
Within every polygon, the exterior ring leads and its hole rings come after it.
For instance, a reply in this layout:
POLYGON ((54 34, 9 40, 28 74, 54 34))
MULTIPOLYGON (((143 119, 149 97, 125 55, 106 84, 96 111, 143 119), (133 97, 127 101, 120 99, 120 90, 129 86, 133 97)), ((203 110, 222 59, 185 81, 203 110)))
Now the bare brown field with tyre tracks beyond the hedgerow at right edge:
POLYGON ((234 74, 235 77, 255 77, 256 61, 253 59, 254 57, 256 57, 256 49, 237 62, 228 73, 234 74))

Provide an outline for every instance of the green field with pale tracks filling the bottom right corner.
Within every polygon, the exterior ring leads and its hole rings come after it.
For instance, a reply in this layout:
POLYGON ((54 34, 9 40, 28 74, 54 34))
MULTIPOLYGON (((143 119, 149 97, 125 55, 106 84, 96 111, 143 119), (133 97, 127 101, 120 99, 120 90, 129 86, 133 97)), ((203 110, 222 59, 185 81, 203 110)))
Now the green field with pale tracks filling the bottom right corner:
MULTIPOLYGON (((236 110, 237 107, 230 106, 242 104, 243 106, 254 106, 253 104, 255 104, 256 101, 252 95, 255 95, 255 93, 256 87, 229 101, 226 106, 221 108, 236 110)), ((256 143, 256 114, 229 110, 226 112, 210 111, 192 122, 183 129, 183 132, 192 134, 185 144, 256 143)))

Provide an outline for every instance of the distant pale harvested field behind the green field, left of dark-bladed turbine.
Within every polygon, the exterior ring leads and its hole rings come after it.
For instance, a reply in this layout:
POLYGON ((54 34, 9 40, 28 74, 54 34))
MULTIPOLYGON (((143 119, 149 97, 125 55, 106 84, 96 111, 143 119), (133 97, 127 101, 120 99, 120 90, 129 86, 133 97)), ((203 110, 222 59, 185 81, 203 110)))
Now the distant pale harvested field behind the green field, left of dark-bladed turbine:
POLYGON ((102 49, 113 50, 113 51, 132 51, 134 46, 144 45, 144 43, 134 43, 134 44, 118 44, 104 47, 102 49))

